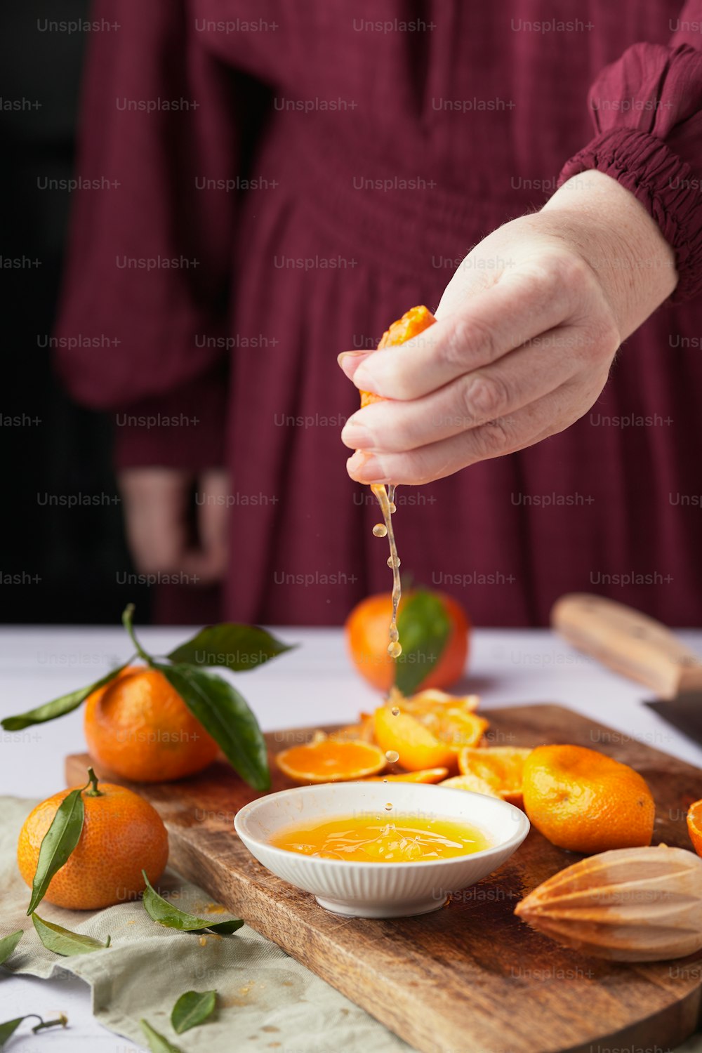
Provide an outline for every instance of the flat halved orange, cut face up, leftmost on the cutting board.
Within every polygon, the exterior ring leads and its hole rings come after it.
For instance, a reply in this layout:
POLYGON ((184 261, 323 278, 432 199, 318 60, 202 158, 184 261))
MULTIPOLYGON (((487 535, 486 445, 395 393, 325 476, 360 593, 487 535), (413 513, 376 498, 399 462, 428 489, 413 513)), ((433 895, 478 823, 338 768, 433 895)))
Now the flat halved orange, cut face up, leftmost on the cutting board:
POLYGON ((377 775, 387 760, 370 742, 324 738, 294 746, 276 757, 281 772, 294 782, 348 782, 377 775))

